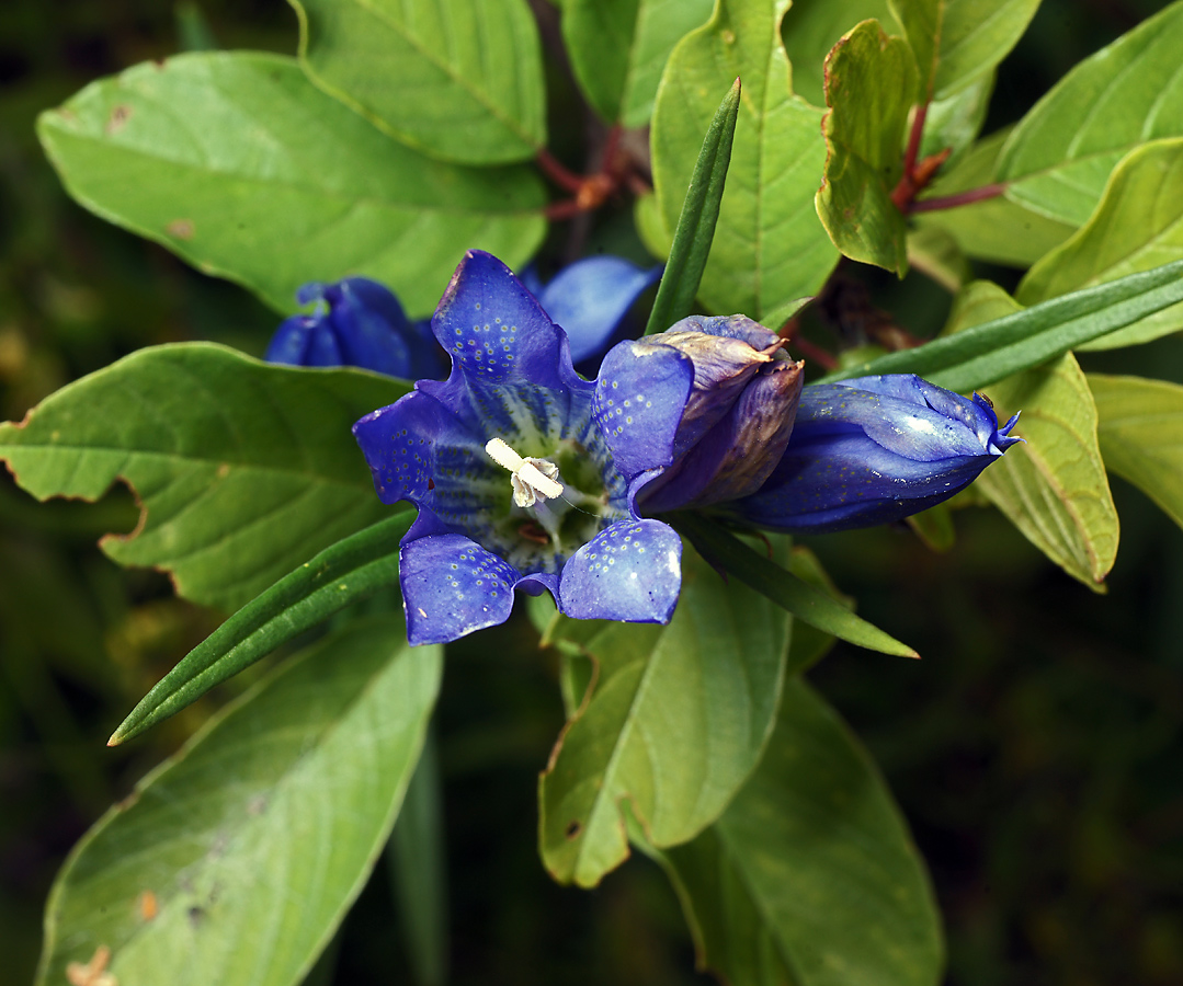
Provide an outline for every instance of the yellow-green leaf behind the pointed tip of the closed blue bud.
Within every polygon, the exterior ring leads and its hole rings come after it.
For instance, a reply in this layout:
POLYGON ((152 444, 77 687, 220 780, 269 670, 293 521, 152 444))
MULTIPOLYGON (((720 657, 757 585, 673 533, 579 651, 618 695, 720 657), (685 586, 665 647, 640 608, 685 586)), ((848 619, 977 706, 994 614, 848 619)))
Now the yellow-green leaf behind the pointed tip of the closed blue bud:
MULTIPOLYGON (((950 330, 1010 314, 1019 305, 976 281, 958 299, 950 330)), ((1026 538, 1073 578, 1095 589, 1117 559, 1118 517, 1097 445, 1097 408, 1075 357, 990 385, 998 420, 1022 411, 1026 439, 981 476, 984 493, 1026 538)))

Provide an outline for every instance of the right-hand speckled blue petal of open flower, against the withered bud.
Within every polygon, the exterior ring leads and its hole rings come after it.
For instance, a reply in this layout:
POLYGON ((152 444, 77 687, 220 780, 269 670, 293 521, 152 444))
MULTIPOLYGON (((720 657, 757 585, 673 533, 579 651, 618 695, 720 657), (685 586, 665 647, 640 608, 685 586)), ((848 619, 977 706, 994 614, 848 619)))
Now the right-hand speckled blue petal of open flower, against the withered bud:
POLYGON ((595 420, 628 479, 673 461, 694 365, 670 346, 623 342, 600 366, 595 420))

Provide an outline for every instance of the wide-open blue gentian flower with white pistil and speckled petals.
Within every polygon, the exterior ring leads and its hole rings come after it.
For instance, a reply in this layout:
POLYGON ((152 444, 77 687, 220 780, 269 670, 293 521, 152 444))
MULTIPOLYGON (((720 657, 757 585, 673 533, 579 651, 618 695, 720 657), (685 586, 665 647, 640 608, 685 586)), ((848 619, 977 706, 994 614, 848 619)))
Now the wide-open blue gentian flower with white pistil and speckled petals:
MULTIPOLYGON (((354 426, 382 501, 419 507, 399 552, 411 642, 504 622, 515 589, 549 590, 577 618, 666 622, 681 541, 641 519, 634 499, 668 447, 629 429, 615 439, 628 468, 614 460, 596 384, 575 372, 565 335, 487 253, 465 255, 432 330, 451 376, 419 381, 354 426)), ((666 403, 657 384, 634 401, 657 416, 666 403)))

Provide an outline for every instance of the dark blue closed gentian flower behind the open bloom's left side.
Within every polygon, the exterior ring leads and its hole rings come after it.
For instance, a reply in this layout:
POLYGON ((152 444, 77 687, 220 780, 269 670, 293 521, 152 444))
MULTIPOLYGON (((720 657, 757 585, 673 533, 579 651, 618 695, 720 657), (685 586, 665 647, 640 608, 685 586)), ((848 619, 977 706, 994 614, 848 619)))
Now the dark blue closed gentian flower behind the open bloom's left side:
POLYGON ((368 278, 305 284, 302 305, 318 301, 312 314, 297 314, 276 330, 264 359, 293 366, 361 366, 405 380, 438 377, 444 369, 426 323, 413 323, 394 293, 368 278))

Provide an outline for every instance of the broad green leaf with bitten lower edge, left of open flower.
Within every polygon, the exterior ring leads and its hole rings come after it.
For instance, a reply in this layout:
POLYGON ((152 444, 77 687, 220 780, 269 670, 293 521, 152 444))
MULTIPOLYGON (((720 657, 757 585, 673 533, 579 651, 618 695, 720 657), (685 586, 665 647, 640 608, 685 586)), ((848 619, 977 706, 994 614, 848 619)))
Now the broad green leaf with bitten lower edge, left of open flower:
POLYGON ((349 434, 408 384, 276 366, 212 343, 134 352, 0 424, 0 459, 38 499, 117 480, 142 513, 103 549, 237 610, 318 551, 389 517, 349 434))

